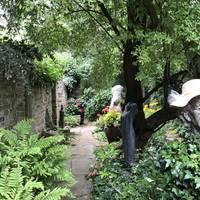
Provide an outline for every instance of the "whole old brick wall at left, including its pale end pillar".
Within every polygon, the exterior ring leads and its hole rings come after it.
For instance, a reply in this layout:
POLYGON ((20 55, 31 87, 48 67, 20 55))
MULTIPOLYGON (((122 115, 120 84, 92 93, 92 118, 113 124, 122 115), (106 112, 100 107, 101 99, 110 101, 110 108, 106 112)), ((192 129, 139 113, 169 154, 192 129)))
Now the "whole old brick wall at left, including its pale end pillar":
POLYGON ((27 92, 20 83, 12 83, 0 76, 0 127, 12 127, 18 121, 32 118, 38 132, 46 128, 46 114, 58 125, 61 105, 67 95, 63 81, 52 88, 34 86, 27 92), (52 119, 53 118, 53 119, 52 119))

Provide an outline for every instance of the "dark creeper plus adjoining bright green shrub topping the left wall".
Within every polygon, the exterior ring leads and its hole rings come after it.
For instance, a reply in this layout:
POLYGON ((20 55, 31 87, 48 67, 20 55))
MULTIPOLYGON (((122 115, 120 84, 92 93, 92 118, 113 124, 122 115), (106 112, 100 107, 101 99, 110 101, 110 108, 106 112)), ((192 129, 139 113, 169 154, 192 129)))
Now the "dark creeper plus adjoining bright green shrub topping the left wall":
POLYGON ((26 87, 35 84, 53 85, 62 77, 64 66, 57 57, 42 56, 33 45, 2 39, 0 74, 26 87))

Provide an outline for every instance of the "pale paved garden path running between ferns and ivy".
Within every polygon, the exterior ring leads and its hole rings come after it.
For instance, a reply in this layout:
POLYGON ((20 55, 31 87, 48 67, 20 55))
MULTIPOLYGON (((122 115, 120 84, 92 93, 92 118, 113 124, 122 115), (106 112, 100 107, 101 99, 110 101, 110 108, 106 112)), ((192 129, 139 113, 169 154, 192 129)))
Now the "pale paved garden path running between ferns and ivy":
POLYGON ((72 141, 71 159, 69 167, 75 176, 77 184, 72 188, 73 194, 77 200, 90 200, 92 185, 86 180, 89 168, 95 164, 94 150, 97 141, 92 136, 94 126, 88 124, 73 128, 75 138, 72 141))

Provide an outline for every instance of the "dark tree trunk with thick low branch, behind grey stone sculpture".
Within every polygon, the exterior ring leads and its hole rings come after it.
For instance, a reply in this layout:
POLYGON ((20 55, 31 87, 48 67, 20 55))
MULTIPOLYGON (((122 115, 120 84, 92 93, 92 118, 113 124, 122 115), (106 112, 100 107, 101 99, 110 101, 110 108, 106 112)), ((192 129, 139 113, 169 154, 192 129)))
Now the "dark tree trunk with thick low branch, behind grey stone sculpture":
MULTIPOLYGON (((135 34, 135 26, 136 24, 140 24, 138 18, 138 7, 141 6, 141 2, 143 2, 146 9, 148 9, 148 13, 151 16, 152 20, 152 28, 157 27, 158 19, 152 13, 155 13, 152 4, 148 4, 148 1, 134 1, 128 0, 127 1, 127 11, 128 11, 128 31, 135 34)), ((136 75, 139 72, 138 66, 138 58, 133 54, 136 47, 140 44, 138 40, 128 39, 124 42, 124 55, 123 55, 123 72, 124 72, 124 80, 126 86, 126 99, 125 103, 134 102, 138 105, 138 115, 134 122, 135 132, 136 132, 136 145, 137 147, 144 147, 148 139, 153 134, 154 130, 159 127, 164 122, 168 121, 169 119, 173 119, 176 117, 176 113, 167 108, 164 110, 157 112, 155 115, 150 117, 149 119, 145 120, 144 111, 143 111, 143 91, 140 81, 136 80, 136 75), (147 126, 148 124, 148 126, 147 126)), ((167 63, 168 64, 168 63, 167 63)), ((168 74, 168 73, 167 73, 168 74)), ((167 92, 167 91, 166 91, 167 92)))

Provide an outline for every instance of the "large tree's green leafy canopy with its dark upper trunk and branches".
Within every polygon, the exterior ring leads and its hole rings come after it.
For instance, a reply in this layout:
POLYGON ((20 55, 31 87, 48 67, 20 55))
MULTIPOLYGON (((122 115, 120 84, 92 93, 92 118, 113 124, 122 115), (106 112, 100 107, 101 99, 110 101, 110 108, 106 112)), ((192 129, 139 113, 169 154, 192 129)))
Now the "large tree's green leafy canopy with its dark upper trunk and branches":
MULTIPOLYGON (((9 33, 20 30, 23 39, 48 54, 67 48, 92 59, 97 83, 112 85, 122 71, 126 102, 138 104, 140 121, 145 120, 142 104, 155 91, 162 89, 169 114, 169 88, 183 75, 200 75, 198 0, 2 0, 0 5, 9 33)), ((144 124, 153 130, 173 117, 144 124)))

